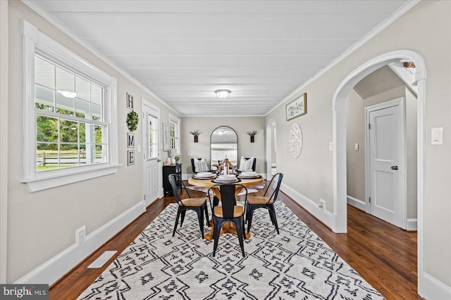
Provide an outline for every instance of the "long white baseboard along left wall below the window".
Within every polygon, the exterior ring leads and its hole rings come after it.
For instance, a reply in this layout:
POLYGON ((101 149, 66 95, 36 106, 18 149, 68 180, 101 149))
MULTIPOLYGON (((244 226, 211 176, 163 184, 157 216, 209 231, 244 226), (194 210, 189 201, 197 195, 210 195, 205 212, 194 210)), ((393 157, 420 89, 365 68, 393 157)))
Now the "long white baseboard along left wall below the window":
POLYGON ((89 233, 82 244, 71 245, 14 283, 20 285, 39 283, 51 285, 145 211, 144 201, 140 201, 97 228, 97 230, 89 233))

